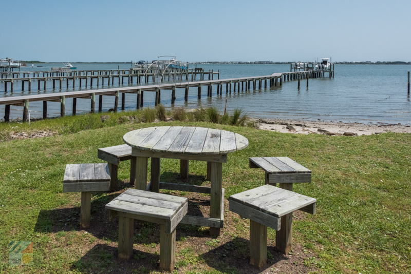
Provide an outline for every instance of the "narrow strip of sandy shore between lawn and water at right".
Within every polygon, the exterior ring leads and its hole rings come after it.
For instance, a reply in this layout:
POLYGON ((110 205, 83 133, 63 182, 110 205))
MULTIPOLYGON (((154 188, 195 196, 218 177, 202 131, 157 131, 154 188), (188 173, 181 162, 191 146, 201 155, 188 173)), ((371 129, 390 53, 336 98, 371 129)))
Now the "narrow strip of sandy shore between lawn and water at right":
POLYGON ((411 133, 410 125, 389 123, 342 123, 329 121, 253 119, 260 129, 284 133, 328 134, 328 135, 371 135, 386 132, 411 133))

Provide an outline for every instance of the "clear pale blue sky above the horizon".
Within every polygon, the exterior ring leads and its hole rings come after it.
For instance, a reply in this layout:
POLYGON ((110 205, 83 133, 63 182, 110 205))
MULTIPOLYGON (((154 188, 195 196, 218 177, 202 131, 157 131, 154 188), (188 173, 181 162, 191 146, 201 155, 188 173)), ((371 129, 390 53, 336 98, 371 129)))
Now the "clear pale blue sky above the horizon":
POLYGON ((411 1, 5 1, 0 58, 411 61, 411 1))

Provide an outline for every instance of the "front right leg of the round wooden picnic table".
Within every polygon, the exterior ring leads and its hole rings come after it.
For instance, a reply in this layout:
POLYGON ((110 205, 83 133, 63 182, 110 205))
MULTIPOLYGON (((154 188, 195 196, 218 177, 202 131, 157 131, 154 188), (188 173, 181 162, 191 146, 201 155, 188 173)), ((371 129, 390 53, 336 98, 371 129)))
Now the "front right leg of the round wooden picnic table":
MULTIPOLYGON (((222 163, 211 162, 210 218, 221 218, 222 163)), ((210 235, 220 236, 220 228, 210 227, 210 235)))

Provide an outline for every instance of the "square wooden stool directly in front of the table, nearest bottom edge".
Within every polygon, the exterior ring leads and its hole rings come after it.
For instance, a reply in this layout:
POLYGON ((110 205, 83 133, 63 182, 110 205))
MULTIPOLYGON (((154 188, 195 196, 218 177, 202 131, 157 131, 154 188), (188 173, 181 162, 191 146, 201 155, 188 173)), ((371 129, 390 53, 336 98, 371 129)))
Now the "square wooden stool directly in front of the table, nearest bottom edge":
POLYGON ((160 269, 172 272, 176 226, 187 213, 188 199, 138 189, 127 189, 106 205, 110 220, 119 217, 119 258, 133 255, 134 219, 160 224, 160 269))

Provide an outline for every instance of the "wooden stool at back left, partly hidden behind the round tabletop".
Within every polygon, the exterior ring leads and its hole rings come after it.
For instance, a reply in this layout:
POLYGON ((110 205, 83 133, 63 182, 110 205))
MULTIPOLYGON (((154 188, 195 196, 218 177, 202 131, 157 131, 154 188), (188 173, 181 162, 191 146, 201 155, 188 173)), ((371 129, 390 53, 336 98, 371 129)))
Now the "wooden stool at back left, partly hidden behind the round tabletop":
POLYGON ((110 191, 117 190, 118 166, 122 161, 130 161, 130 184, 134 185, 136 181, 136 157, 132 156, 132 147, 129 145, 118 145, 112 147, 99 148, 97 157, 108 164, 111 174, 110 191))

